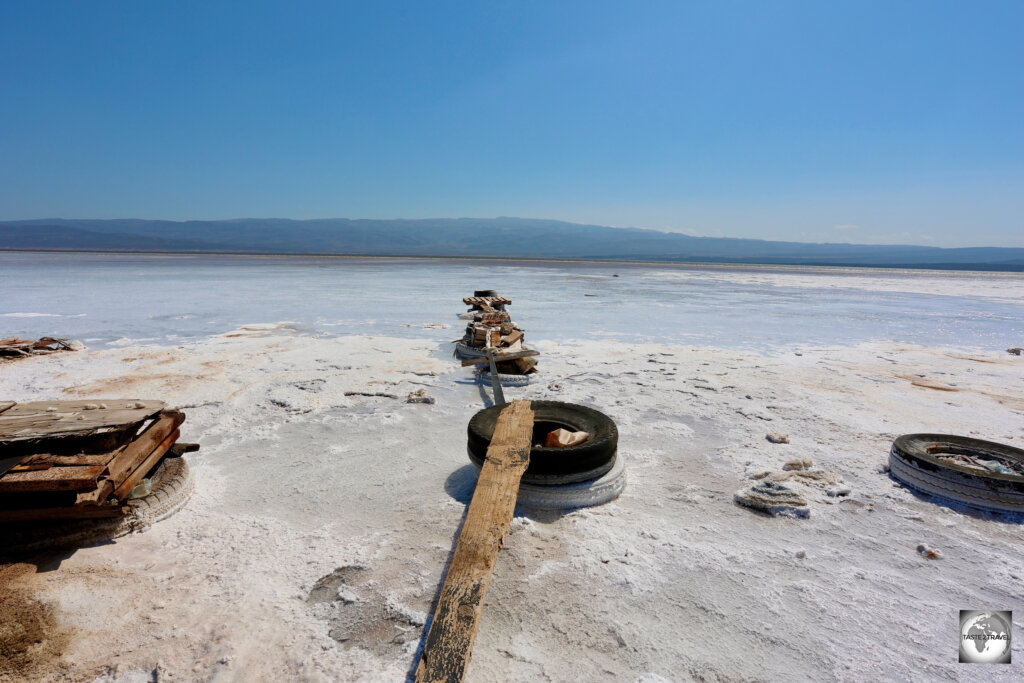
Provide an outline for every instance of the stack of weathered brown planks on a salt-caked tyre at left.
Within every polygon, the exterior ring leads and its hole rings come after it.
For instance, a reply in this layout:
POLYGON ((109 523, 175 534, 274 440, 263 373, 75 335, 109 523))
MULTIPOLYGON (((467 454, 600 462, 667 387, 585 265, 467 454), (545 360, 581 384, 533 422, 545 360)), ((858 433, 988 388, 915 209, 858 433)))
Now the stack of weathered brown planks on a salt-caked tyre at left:
POLYGON ((162 401, 0 402, 0 522, 117 517, 176 446, 183 413, 162 401))

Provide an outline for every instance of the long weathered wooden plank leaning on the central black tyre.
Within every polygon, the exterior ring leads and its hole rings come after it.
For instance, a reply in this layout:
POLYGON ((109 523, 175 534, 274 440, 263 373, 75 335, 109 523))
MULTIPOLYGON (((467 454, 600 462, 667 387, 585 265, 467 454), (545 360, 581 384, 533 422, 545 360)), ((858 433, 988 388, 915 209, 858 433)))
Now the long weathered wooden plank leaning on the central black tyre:
POLYGON ((529 465, 532 433, 528 400, 514 400, 498 416, 416 669, 417 683, 456 683, 466 676, 498 551, 512 523, 519 480, 529 465))

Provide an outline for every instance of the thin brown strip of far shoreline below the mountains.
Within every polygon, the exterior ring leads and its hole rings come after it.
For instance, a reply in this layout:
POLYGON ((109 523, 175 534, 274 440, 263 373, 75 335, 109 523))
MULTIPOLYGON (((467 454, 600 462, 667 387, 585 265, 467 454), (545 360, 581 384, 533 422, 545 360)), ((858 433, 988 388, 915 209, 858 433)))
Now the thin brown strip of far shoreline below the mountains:
POLYGON ((996 266, 987 263, 831 263, 831 262, 779 262, 779 261, 674 261, 674 260, 640 260, 640 259, 596 259, 596 258, 537 258, 528 256, 424 256, 424 255, 401 255, 401 254, 324 254, 324 253, 298 253, 298 252, 240 252, 240 251, 160 251, 160 250, 102 250, 102 249, 12 249, 10 247, 0 247, 0 253, 10 254, 99 254, 115 256, 228 256, 239 258, 263 258, 263 259, 330 259, 330 260, 381 260, 381 261, 483 261, 483 262, 504 262, 504 263, 580 263, 580 264, 615 264, 623 266, 631 265, 658 265, 658 266, 687 266, 687 267, 725 267, 725 268, 864 268, 872 270, 933 270, 936 272, 1024 272, 1024 266, 1008 265, 996 266))

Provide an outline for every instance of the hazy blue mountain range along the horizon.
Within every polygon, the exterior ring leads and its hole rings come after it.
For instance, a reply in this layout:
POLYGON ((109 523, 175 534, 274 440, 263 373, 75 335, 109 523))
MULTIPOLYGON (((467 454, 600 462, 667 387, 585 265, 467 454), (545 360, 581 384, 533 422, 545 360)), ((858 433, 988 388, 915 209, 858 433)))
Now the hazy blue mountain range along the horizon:
POLYGON ((698 261, 1024 271, 1024 248, 695 238, 530 218, 0 221, 0 249, 698 261))

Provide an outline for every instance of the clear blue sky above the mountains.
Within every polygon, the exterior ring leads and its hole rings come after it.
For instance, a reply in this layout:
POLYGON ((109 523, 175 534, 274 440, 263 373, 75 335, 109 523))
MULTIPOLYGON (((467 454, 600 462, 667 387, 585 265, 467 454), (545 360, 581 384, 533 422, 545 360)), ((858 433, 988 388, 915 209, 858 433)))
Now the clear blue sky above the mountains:
POLYGON ((0 219, 1024 246, 1024 3, 0 4, 0 219))

